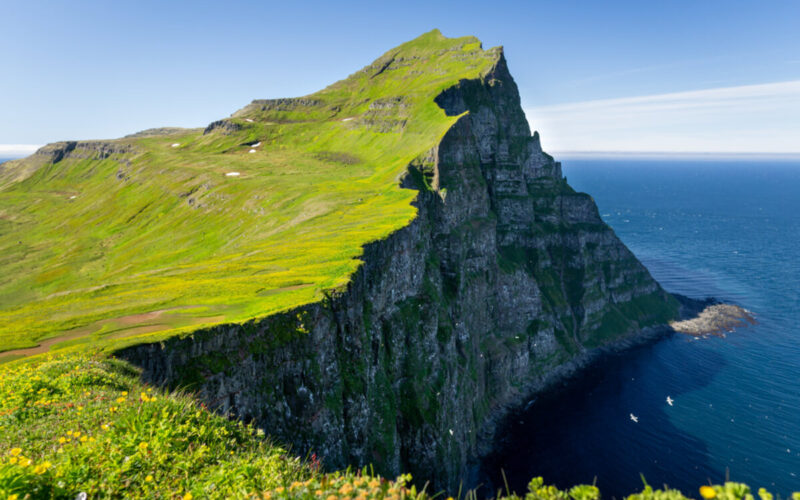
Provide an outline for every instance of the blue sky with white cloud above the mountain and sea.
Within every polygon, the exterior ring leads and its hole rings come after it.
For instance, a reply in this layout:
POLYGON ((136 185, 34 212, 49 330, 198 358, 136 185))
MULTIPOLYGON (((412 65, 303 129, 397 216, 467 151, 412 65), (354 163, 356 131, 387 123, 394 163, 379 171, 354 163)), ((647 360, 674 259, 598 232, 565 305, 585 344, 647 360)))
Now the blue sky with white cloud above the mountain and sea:
POLYGON ((800 2, 0 2, 0 156, 200 127, 433 28, 503 45, 551 152, 800 152, 800 2))

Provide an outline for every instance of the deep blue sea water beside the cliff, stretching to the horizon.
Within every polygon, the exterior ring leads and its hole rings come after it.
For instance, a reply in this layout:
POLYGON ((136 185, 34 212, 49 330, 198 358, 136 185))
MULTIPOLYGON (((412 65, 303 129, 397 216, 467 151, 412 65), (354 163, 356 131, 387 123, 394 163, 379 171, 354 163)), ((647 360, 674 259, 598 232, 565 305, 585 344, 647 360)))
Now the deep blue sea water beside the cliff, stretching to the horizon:
POLYGON ((596 478, 619 498, 641 473, 695 497, 726 474, 800 491, 800 161, 568 160, 564 173, 667 290, 734 301, 759 324, 672 336, 540 399, 496 465, 512 488, 596 478))

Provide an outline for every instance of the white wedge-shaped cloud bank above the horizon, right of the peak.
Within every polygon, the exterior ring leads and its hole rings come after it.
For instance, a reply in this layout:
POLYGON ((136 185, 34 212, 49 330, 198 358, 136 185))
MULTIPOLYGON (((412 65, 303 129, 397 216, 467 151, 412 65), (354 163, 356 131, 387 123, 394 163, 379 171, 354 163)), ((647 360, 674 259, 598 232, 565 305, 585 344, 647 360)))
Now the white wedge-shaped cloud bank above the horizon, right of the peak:
POLYGON ((800 80, 526 110, 552 151, 800 152, 800 80))

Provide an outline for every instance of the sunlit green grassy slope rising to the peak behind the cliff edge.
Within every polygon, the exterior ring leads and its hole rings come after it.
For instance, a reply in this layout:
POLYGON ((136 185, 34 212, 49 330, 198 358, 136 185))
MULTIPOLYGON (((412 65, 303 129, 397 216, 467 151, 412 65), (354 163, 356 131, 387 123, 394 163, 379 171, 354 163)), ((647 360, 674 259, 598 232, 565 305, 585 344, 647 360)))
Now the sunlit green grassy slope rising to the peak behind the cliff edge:
POLYGON ((434 98, 500 56, 434 30, 320 92, 257 100, 205 129, 56 143, 4 164, 5 360, 320 300, 364 244, 415 216, 399 179, 457 119, 434 98))

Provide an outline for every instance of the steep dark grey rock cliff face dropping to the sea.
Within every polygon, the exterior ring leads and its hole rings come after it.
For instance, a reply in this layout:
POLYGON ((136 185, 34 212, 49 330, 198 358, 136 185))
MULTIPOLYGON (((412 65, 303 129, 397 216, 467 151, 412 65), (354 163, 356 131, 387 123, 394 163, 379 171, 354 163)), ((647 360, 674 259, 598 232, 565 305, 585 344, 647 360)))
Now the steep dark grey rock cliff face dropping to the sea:
POLYGON ((418 215, 365 247, 345 289, 118 355, 329 467, 453 490, 510 408, 676 315, 531 136, 502 55, 437 103, 461 116, 403 179, 418 215))

